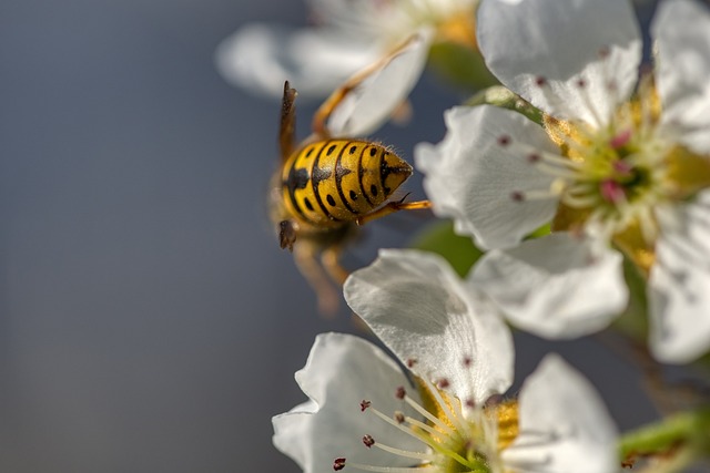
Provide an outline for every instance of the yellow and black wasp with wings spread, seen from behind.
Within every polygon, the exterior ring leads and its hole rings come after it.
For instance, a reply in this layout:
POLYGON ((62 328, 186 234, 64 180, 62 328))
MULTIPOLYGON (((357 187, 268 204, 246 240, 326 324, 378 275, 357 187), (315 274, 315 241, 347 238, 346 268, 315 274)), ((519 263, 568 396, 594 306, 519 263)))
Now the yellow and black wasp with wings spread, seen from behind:
POLYGON ((284 84, 271 219, 281 247, 293 253, 316 291, 323 313, 337 309, 339 296, 332 281, 343 285, 349 275, 339 256, 358 226, 394 212, 430 207, 428 200, 392 200, 412 175, 412 166, 390 147, 357 137, 378 126, 405 100, 420 73, 417 68, 424 65, 426 47, 426 40, 415 35, 346 81, 316 111, 313 133, 300 144, 296 91, 287 81, 284 84))

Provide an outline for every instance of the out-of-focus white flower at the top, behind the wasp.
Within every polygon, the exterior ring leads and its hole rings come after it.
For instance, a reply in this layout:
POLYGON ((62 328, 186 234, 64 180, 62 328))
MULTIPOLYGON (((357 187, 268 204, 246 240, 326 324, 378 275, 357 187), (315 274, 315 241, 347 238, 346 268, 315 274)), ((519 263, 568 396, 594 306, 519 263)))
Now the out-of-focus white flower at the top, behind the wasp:
POLYGON ((433 38, 475 42, 477 0, 310 0, 317 25, 290 29, 246 24, 216 51, 222 75, 235 85, 278 97, 284 80, 302 96, 324 96, 422 29, 433 38))

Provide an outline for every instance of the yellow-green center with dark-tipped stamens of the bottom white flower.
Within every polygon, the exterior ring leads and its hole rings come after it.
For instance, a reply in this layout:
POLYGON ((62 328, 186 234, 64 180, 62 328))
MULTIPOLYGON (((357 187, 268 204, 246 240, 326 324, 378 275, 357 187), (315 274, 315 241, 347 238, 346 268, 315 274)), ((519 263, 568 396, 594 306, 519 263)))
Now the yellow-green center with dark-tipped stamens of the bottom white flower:
MULTIPOLYGON (((448 394, 446 380, 437 385, 416 379, 422 403, 409 397, 404 388, 398 388, 397 399, 414 410, 416 415, 403 411, 387 415, 369 401, 361 403, 363 412, 375 415, 381 421, 396 426, 406 435, 422 442, 422 451, 405 451, 388 445, 386 439, 365 435, 363 443, 368 449, 381 449, 395 456, 412 460, 410 466, 365 465, 336 459, 335 471, 346 466, 359 471, 415 473, 422 467, 435 473, 499 473, 503 471, 499 451, 508 446, 518 434, 516 402, 501 402, 477 407, 473 402, 462 403, 448 394)), ((403 408, 405 407, 403 405, 403 408)), ((402 462, 398 462, 399 464, 402 462)))

